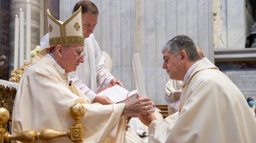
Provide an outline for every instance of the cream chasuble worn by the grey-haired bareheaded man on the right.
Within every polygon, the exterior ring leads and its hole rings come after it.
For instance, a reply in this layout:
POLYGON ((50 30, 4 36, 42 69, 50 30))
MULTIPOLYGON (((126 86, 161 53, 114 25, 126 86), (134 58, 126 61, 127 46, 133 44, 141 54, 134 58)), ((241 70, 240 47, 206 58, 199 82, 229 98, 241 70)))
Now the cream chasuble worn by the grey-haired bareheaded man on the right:
POLYGON ((164 121, 153 121, 148 135, 154 143, 255 142, 255 129, 242 92, 204 58, 183 86, 176 120, 168 116, 164 121))

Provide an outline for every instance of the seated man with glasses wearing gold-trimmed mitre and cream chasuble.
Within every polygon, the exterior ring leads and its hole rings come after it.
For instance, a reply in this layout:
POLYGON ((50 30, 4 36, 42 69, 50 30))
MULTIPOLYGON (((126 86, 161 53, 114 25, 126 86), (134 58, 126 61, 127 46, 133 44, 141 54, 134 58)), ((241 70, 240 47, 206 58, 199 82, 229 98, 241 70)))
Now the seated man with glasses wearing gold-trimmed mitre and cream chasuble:
MULTIPOLYGON (((45 128, 67 131, 74 124, 69 117, 69 107, 78 102, 86 109, 80 120, 84 126, 83 142, 124 142, 124 115, 153 112, 150 98, 138 98, 125 104, 91 104, 68 77, 86 55, 81 8, 65 22, 52 17, 49 10, 47 15, 51 48, 35 55, 19 81, 12 132, 18 134, 29 129, 39 132, 45 128)), ((54 142, 70 140, 62 137, 54 142)))

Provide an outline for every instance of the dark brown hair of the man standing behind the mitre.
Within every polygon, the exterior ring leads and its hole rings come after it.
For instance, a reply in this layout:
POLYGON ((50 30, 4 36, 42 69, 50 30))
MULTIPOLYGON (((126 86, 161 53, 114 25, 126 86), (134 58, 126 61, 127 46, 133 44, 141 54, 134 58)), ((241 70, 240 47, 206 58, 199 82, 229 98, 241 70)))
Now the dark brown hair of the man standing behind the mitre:
POLYGON ((73 8, 73 13, 76 12, 80 6, 82 7, 82 14, 84 14, 84 13, 91 13, 91 14, 95 14, 95 15, 99 14, 99 10, 98 10, 97 6, 91 1, 77 2, 73 8))

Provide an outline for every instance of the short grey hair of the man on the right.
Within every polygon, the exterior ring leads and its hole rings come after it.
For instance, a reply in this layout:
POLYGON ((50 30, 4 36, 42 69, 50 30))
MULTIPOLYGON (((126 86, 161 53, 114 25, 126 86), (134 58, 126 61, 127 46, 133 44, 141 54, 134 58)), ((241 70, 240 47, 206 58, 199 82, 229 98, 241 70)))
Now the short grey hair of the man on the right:
POLYGON ((197 53, 197 48, 193 40, 185 35, 178 35, 173 39, 170 39, 163 46, 162 53, 166 50, 168 50, 168 53, 172 53, 175 56, 177 56, 181 50, 184 50, 186 51, 187 57, 190 61, 198 61, 201 59, 197 53))

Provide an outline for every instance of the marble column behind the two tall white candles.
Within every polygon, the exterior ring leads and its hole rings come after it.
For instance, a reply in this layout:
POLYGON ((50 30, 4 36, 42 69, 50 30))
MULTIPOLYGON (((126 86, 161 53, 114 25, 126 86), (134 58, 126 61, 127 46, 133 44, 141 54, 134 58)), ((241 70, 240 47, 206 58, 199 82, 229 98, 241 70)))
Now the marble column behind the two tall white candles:
MULTIPOLYGON (((35 48, 36 45, 40 44, 39 39, 39 12, 40 12, 40 2, 39 0, 29 1, 31 3, 31 50, 35 48)), ((24 11, 25 19, 25 34, 24 34, 24 47, 26 47, 26 4, 27 1, 24 0, 12 0, 10 2, 10 49, 9 49, 9 71, 13 70, 13 60, 14 60, 14 25, 15 25, 15 15, 19 14, 19 9, 22 8, 24 11)), ((25 51, 26 52, 26 51, 25 51)), ((26 55, 26 53, 24 53, 26 55)))

